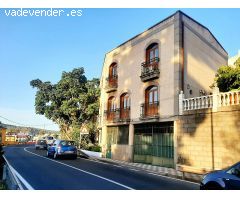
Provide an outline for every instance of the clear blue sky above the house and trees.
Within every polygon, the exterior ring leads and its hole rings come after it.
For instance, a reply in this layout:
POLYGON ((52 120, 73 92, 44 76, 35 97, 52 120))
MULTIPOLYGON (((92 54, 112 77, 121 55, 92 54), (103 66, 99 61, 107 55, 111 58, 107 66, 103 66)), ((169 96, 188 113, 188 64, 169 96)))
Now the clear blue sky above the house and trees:
MULTIPOLYGON (((56 83, 63 71, 76 67, 84 67, 88 79, 100 77, 108 51, 178 9, 81 10, 82 16, 75 17, 11 17, 0 9, 1 122, 58 130, 35 114, 36 89, 29 82, 39 78, 56 83)), ((240 9, 181 11, 206 26, 229 56, 237 54, 240 9)))

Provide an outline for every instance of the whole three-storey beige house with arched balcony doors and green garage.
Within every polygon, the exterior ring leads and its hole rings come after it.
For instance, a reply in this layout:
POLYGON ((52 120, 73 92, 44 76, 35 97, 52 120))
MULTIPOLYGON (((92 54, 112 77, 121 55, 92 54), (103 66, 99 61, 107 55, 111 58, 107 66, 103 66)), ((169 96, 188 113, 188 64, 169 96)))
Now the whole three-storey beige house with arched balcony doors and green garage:
POLYGON ((227 59, 209 29, 181 11, 108 52, 99 111, 103 155, 175 167, 179 94, 211 93, 227 59))

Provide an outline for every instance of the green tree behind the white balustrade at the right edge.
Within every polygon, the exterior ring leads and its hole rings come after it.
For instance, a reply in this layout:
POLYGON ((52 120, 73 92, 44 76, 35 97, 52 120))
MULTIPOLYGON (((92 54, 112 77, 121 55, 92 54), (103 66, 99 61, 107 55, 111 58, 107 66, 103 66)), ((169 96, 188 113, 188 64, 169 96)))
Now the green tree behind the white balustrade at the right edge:
POLYGON ((215 83, 221 92, 240 89, 240 58, 234 63, 235 67, 221 66, 215 76, 215 83))

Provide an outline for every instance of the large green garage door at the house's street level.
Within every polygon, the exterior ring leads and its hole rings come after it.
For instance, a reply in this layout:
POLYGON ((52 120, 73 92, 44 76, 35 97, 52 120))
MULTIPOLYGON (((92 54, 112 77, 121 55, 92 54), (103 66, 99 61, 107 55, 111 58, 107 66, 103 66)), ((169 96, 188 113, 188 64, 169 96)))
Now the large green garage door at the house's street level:
POLYGON ((174 167, 173 122, 135 125, 134 162, 174 167))

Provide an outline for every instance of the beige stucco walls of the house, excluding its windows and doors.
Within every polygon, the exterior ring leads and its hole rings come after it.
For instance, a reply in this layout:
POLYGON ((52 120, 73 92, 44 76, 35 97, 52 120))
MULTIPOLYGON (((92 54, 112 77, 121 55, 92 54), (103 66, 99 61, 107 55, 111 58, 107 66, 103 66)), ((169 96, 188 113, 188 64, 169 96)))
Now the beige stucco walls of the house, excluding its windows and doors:
MULTIPOLYGON (((128 127, 128 144, 112 144, 111 158, 133 161, 135 126, 138 124, 172 122, 179 115, 178 96, 184 91, 186 97, 210 93, 218 67, 227 64, 227 53, 211 32, 184 13, 178 11, 147 31, 135 36, 105 55, 101 75, 100 120, 103 155, 107 151, 108 127, 128 127), (157 78, 143 81, 141 64, 146 61, 146 49, 157 43, 159 50, 157 78), (117 88, 107 91, 109 67, 117 64, 117 88), (158 89, 158 116, 140 117, 141 104, 145 103, 145 92, 149 86, 158 89), (191 92, 190 92, 191 90, 191 92), (116 108, 120 107, 120 96, 130 96, 130 119, 125 122, 109 122, 105 115, 109 97, 115 97, 116 108)), ((170 123, 171 124, 171 123, 170 123)), ((165 125, 164 125, 165 126, 165 125)), ((172 125, 171 125, 172 126, 172 125)), ((171 136, 174 149, 174 164, 177 162, 177 137, 171 136)), ((155 158, 156 159, 156 158, 155 158)), ((162 159, 164 160, 164 159, 162 159)), ((161 165, 161 164, 159 164, 161 165)))

